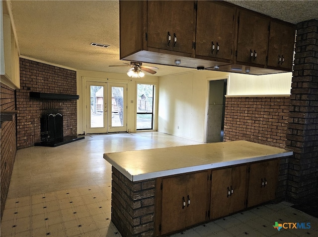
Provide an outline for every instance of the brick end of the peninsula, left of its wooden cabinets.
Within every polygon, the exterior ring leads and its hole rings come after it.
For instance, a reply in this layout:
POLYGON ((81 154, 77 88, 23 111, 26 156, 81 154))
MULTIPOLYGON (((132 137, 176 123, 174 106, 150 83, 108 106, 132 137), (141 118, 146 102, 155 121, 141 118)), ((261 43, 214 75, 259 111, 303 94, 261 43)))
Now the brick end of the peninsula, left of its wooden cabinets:
POLYGON ((131 182, 112 166, 111 219, 122 236, 154 236, 155 184, 131 182))

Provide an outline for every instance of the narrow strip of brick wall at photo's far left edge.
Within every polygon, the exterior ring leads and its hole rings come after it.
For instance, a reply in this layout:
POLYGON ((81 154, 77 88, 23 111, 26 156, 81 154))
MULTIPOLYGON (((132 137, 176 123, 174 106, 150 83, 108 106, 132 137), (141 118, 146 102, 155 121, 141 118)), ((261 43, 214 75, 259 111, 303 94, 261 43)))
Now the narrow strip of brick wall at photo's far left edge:
MULTIPOLYGON (((1 83, 1 110, 16 110, 14 90, 1 83)), ((15 115, 13 121, 1 122, 1 218, 9 189, 13 163, 16 154, 16 126, 15 115)))

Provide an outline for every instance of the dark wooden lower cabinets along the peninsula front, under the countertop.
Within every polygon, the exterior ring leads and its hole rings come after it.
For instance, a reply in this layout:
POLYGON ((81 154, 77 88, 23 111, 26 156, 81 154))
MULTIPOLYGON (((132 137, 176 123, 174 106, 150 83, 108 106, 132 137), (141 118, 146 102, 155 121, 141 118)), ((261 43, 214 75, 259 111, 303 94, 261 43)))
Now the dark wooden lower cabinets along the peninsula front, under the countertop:
POLYGON ((275 199, 279 158, 156 180, 155 236, 275 199))

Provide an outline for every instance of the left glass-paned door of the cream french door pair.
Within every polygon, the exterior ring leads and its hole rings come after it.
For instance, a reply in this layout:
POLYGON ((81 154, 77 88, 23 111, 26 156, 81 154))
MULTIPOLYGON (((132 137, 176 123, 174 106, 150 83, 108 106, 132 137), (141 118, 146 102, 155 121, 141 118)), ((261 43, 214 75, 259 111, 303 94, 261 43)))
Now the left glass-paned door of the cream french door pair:
POLYGON ((86 82, 86 133, 107 133, 107 83, 86 82))

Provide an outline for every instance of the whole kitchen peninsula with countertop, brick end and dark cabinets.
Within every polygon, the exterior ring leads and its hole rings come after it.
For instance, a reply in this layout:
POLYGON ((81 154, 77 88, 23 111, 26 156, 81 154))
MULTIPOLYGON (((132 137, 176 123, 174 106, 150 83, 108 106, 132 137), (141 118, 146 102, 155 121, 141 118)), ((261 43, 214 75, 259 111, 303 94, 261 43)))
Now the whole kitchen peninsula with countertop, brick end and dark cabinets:
POLYGON ((268 202, 292 154, 247 141, 104 154, 112 221, 124 237, 164 236, 268 202))

